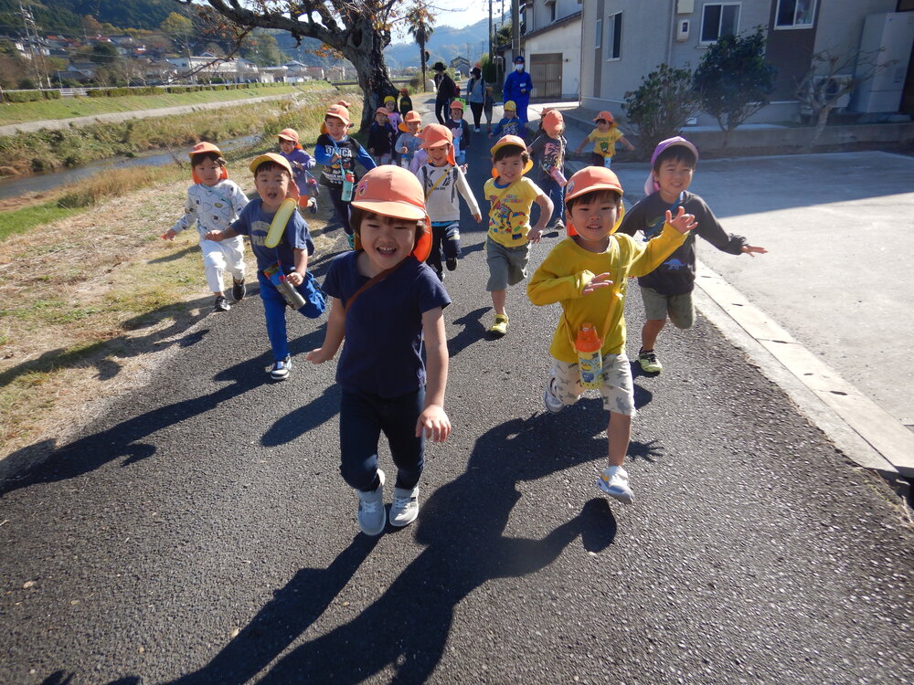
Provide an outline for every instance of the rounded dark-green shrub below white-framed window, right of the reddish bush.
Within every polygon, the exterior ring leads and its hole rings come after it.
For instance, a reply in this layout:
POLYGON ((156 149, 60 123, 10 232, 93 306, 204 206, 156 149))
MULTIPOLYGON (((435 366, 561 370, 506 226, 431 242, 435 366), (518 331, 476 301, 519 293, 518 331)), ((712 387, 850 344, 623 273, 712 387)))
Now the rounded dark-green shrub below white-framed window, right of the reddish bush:
POLYGON ((777 69, 765 61, 761 27, 748 36, 722 36, 707 48, 695 71, 702 109, 729 134, 768 104, 777 69))

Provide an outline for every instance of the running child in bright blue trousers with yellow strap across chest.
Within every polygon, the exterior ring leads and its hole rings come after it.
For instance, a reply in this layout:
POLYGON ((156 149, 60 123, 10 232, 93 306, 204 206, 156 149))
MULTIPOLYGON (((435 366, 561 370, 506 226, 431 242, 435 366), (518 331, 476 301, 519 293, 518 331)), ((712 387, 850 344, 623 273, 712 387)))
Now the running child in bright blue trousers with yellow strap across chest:
POLYGON ((281 154, 266 153, 250 163, 259 199, 251 200, 231 227, 207 233, 209 240, 227 240, 236 236, 250 237, 250 248, 257 258, 257 280, 260 300, 267 321, 267 337, 273 352, 270 377, 282 381, 292 368, 292 355, 286 339, 286 299, 277 283, 292 284, 304 300, 298 310, 309 319, 324 311, 324 294, 318 290, 314 276, 308 270, 308 257, 314 254, 314 242, 302 215, 292 210, 279 243, 267 247, 267 236, 273 219, 286 197, 294 197, 292 165, 281 154))

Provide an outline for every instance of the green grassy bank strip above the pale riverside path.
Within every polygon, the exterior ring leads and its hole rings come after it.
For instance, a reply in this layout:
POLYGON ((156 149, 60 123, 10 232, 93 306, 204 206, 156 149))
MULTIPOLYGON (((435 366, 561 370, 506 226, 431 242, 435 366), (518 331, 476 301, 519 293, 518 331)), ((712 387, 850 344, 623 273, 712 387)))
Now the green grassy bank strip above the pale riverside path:
POLYGON ((330 88, 326 81, 300 83, 298 86, 240 88, 238 90, 198 90, 192 93, 163 93, 162 95, 127 95, 122 98, 61 98, 37 102, 14 102, 0 108, 0 126, 25 121, 89 117, 117 111, 158 110, 163 107, 197 105, 204 102, 250 100, 267 95, 282 95, 299 90, 330 88))

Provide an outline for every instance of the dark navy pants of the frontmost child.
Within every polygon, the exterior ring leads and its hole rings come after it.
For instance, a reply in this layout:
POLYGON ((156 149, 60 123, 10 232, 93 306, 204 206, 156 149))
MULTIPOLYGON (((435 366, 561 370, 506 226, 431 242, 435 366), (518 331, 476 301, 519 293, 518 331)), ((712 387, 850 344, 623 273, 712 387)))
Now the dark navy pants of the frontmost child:
POLYGON ((363 492, 377 489, 377 441, 382 432, 397 465, 397 487, 416 487, 425 466, 424 433, 416 437, 416 421, 424 405, 424 387, 397 397, 343 390, 340 474, 350 487, 363 492))

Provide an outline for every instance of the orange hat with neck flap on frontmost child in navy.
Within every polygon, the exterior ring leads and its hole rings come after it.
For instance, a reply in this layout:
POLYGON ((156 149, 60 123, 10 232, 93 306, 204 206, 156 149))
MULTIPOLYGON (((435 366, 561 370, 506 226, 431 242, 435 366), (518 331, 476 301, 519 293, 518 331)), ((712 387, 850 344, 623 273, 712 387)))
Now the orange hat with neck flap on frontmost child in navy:
MULTIPOLYGON (((411 254, 419 261, 429 258, 431 222, 425 211, 425 192, 416 174, 393 164, 376 166, 359 179, 352 205, 381 216, 393 216, 408 221, 424 220, 425 229, 416 240, 411 254)), ((360 230, 361 227, 356 229, 356 237, 360 230)))

